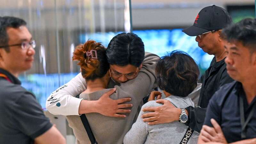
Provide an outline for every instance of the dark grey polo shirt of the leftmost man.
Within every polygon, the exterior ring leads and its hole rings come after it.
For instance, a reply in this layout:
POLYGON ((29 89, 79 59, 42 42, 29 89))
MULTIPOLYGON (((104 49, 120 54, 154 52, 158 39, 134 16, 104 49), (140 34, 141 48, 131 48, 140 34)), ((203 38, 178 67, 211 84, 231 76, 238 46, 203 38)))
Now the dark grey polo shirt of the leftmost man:
POLYGON ((33 144, 52 127, 35 96, 20 81, 0 68, 0 144, 33 144))

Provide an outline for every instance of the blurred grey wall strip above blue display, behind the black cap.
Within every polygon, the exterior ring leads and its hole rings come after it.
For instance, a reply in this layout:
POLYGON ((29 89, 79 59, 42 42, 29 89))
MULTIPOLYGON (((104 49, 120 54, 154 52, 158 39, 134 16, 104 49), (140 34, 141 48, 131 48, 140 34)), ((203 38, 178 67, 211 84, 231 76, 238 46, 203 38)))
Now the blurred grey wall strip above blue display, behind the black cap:
POLYGON ((235 10, 240 11, 237 16, 245 16, 248 11, 252 12, 252 16, 255 13, 254 0, 132 0, 133 28, 185 28, 193 24, 202 8, 213 4, 226 10, 237 6, 235 10))

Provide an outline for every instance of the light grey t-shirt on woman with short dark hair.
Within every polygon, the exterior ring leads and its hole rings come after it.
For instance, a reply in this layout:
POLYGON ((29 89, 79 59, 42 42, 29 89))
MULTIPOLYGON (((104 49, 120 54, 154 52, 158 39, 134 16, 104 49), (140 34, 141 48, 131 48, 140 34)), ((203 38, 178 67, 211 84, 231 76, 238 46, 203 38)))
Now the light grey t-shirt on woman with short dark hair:
MULTIPOLYGON (((177 108, 186 108, 188 106, 195 106, 194 102, 189 97, 169 96, 165 100, 177 108)), ((157 107, 162 104, 156 103, 155 100, 149 101, 142 106, 137 121, 132 125, 129 132, 124 137, 124 144, 178 144, 188 130, 188 126, 174 121, 172 123, 148 125, 143 122, 141 115, 148 113, 143 112, 145 107, 157 107)), ((196 144, 199 133, 194 131, 187 144, 196 144)))

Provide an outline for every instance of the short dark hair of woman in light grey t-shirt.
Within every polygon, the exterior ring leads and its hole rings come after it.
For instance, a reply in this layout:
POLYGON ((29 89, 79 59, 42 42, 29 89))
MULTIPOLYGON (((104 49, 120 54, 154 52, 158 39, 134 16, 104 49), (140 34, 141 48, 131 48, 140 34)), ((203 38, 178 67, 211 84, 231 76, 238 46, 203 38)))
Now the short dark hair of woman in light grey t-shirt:
POLYGON ((199 69, 186 52, 172 51, 156 64, 156 81, 161 90, 186 97, 197 85, 199 69))

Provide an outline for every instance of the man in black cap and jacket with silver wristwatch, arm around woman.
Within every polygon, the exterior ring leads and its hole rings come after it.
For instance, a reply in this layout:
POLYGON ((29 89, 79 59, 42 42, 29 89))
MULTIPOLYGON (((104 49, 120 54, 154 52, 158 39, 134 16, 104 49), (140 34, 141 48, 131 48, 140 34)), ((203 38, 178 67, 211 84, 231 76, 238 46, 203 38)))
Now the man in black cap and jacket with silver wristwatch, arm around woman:
POLYGON ((233 81, 227 74, 224 61, 226 53, 223 40, 220 38, 221 29, 231 23, 232 18, 225 9, 212 5, 203 8, 196 16, 193 26, 183 30, 189 36, 196 36, 196 42, 204 52, 214 55, 210 67, 201 77, 202 88, 198 102, 201 108, 190 106, 185 109, 185 114, 181 113, 179 108, 172 106, 171 103, 159 100, 159 102, 164 103, 161 108, 144 108, 144 111, 154 111, 142 116, 144 122, 151 121, 149 124, 160 124, 180 120, 193 130, 200 132, 209 100, 220 86, 233 81))

